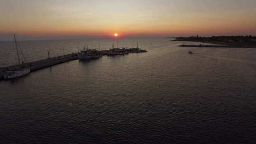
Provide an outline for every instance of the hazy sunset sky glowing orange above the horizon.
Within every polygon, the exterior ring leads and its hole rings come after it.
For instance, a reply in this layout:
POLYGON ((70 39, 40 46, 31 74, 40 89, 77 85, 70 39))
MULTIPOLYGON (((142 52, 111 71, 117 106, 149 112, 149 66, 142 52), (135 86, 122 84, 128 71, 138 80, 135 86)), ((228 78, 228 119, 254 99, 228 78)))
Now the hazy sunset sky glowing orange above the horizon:
POLYGON ((256 0, 0 0, 0 35, 256 35, 256 0))

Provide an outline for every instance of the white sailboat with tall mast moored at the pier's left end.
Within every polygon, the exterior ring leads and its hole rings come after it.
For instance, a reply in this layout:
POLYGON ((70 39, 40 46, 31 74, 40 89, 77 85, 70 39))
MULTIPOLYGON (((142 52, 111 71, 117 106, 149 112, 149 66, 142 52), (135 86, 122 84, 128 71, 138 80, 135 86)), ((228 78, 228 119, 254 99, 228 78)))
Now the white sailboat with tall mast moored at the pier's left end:
MULTIPOLYGON (((18 45, 18 42, 16 41, 15 35, 13 35, 13 36, 14 36, 16 50, 17 50, 18 65, 20 65, 20 59, 19 59, 19 55, 18 55, 18 47, 19 47, 19 45, 18 45)), ((20 49, 20 47, 19 47, 19 49, 20 49)), ((20 49, 20 51, 21 51, 21 49, 20 49)), ((22 56, 23 56, 23 58, 25 60, 25 57, 24 57, 22 51, 21 51, 21 54, 22 54, 22 56)), ((23 75, 25 75, 25 74, 27 74, 29 72, 30 72, 30 69, 20 69, 20 70, 15 70, 15 71, 7 71, 6 74, 4 75, 4 78, 5 79, 13 79, 13 78, 17 78, 17 77, 23 76, 23 75)))

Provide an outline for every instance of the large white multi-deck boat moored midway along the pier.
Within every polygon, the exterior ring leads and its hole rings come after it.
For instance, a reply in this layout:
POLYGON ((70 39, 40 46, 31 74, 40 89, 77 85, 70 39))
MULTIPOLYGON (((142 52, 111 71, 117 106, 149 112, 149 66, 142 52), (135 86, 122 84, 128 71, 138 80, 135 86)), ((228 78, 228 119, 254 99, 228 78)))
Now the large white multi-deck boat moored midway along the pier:
POLYGON ((85 50, 85 46, 84 46, 84 50, 82 50, 77 55, 78 55, 78 58, 81 59, 81 60, 98 59, 98 58, 102 57, 97 52, 97 50, 95 50, 95 49, 88 49, 88 45, 87 45, 87 50, 85 50))

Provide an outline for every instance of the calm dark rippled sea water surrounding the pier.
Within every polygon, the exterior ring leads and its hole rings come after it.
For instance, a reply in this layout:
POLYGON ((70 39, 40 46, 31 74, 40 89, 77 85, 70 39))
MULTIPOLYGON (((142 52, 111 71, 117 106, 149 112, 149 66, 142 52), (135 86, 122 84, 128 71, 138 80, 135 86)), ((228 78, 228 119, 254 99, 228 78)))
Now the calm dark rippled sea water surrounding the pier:
MULTIPOLYGON (((56 56, 133 41, 148 52, 75 60, 0 81, 0 143, 256 143, 256 49, 182 48, 163 38, 19 44, 33 61, 47 50, 56 56)), ((0 42, 0 67, 15 63, 13 42, 0 42)))

